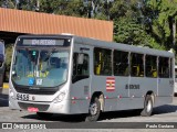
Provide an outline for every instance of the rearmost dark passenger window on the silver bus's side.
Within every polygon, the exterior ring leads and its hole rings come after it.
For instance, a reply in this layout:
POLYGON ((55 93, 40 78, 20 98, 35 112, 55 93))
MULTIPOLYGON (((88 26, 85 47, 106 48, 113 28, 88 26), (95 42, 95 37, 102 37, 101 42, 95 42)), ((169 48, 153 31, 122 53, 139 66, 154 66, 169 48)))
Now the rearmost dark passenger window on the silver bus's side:
POLYGON ((158 58, 158 76, 162 78, 169 77, 169 58, 167 57, 158 58))

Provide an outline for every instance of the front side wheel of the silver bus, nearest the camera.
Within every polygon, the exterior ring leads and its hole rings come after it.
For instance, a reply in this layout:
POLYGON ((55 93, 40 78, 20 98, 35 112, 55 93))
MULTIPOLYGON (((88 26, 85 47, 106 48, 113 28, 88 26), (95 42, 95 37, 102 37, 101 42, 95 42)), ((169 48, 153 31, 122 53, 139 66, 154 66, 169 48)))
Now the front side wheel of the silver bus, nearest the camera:
POLYGON ((86 116, 85 121, 92 122, 97 121, 98 117, 101 114, 101 102, 98 101, 97 97, 91 101, 90 108, 88 108, 88 114, 86 116))

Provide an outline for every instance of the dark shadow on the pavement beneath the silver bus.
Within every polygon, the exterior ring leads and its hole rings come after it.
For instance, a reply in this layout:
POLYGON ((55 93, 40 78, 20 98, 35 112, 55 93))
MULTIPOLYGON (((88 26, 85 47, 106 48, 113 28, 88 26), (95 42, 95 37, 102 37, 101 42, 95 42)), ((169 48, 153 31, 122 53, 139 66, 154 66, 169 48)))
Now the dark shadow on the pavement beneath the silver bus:
MULTIPOLYGON (((155 114, 164 114, 176 112, 177 106, 174 105, 165 105, 162 107, 154 108, 153 116, 155 114)), ((142 109, 138 110, 123 110, 123 111, 113 111, 113 112, 104 112, 101 113, 100 121, 102 120, 112 120, 117 118, 131 118, 131 117, 139 117, 142 109)), ((34 120, 42 120, 42 121, 61 121, 61 122, 84 122, 85 114, 53 114, 49 119, 41 119, 37 114, 29 114, 22 117, 23 119, 34 119, 34 120)))

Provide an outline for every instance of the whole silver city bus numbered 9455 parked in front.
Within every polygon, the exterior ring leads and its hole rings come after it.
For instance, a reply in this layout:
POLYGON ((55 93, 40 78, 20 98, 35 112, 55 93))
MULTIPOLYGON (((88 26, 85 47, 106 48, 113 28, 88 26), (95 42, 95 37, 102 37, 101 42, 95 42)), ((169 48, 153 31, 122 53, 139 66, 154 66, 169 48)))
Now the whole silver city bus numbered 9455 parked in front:
POLYGON ((75 35, 22 35, 9 79, 10 109, 40 118, 153 108, 174 96, 174 54, 75 35))

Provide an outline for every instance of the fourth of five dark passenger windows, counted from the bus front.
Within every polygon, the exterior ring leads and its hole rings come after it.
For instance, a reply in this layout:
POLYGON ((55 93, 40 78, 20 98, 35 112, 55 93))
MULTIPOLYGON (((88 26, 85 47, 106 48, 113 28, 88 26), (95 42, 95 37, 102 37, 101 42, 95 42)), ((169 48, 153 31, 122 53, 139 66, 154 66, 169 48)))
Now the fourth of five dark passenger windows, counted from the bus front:
POLYGON ((157 77, 157 57, 146 55, 146 77, 157 77))

